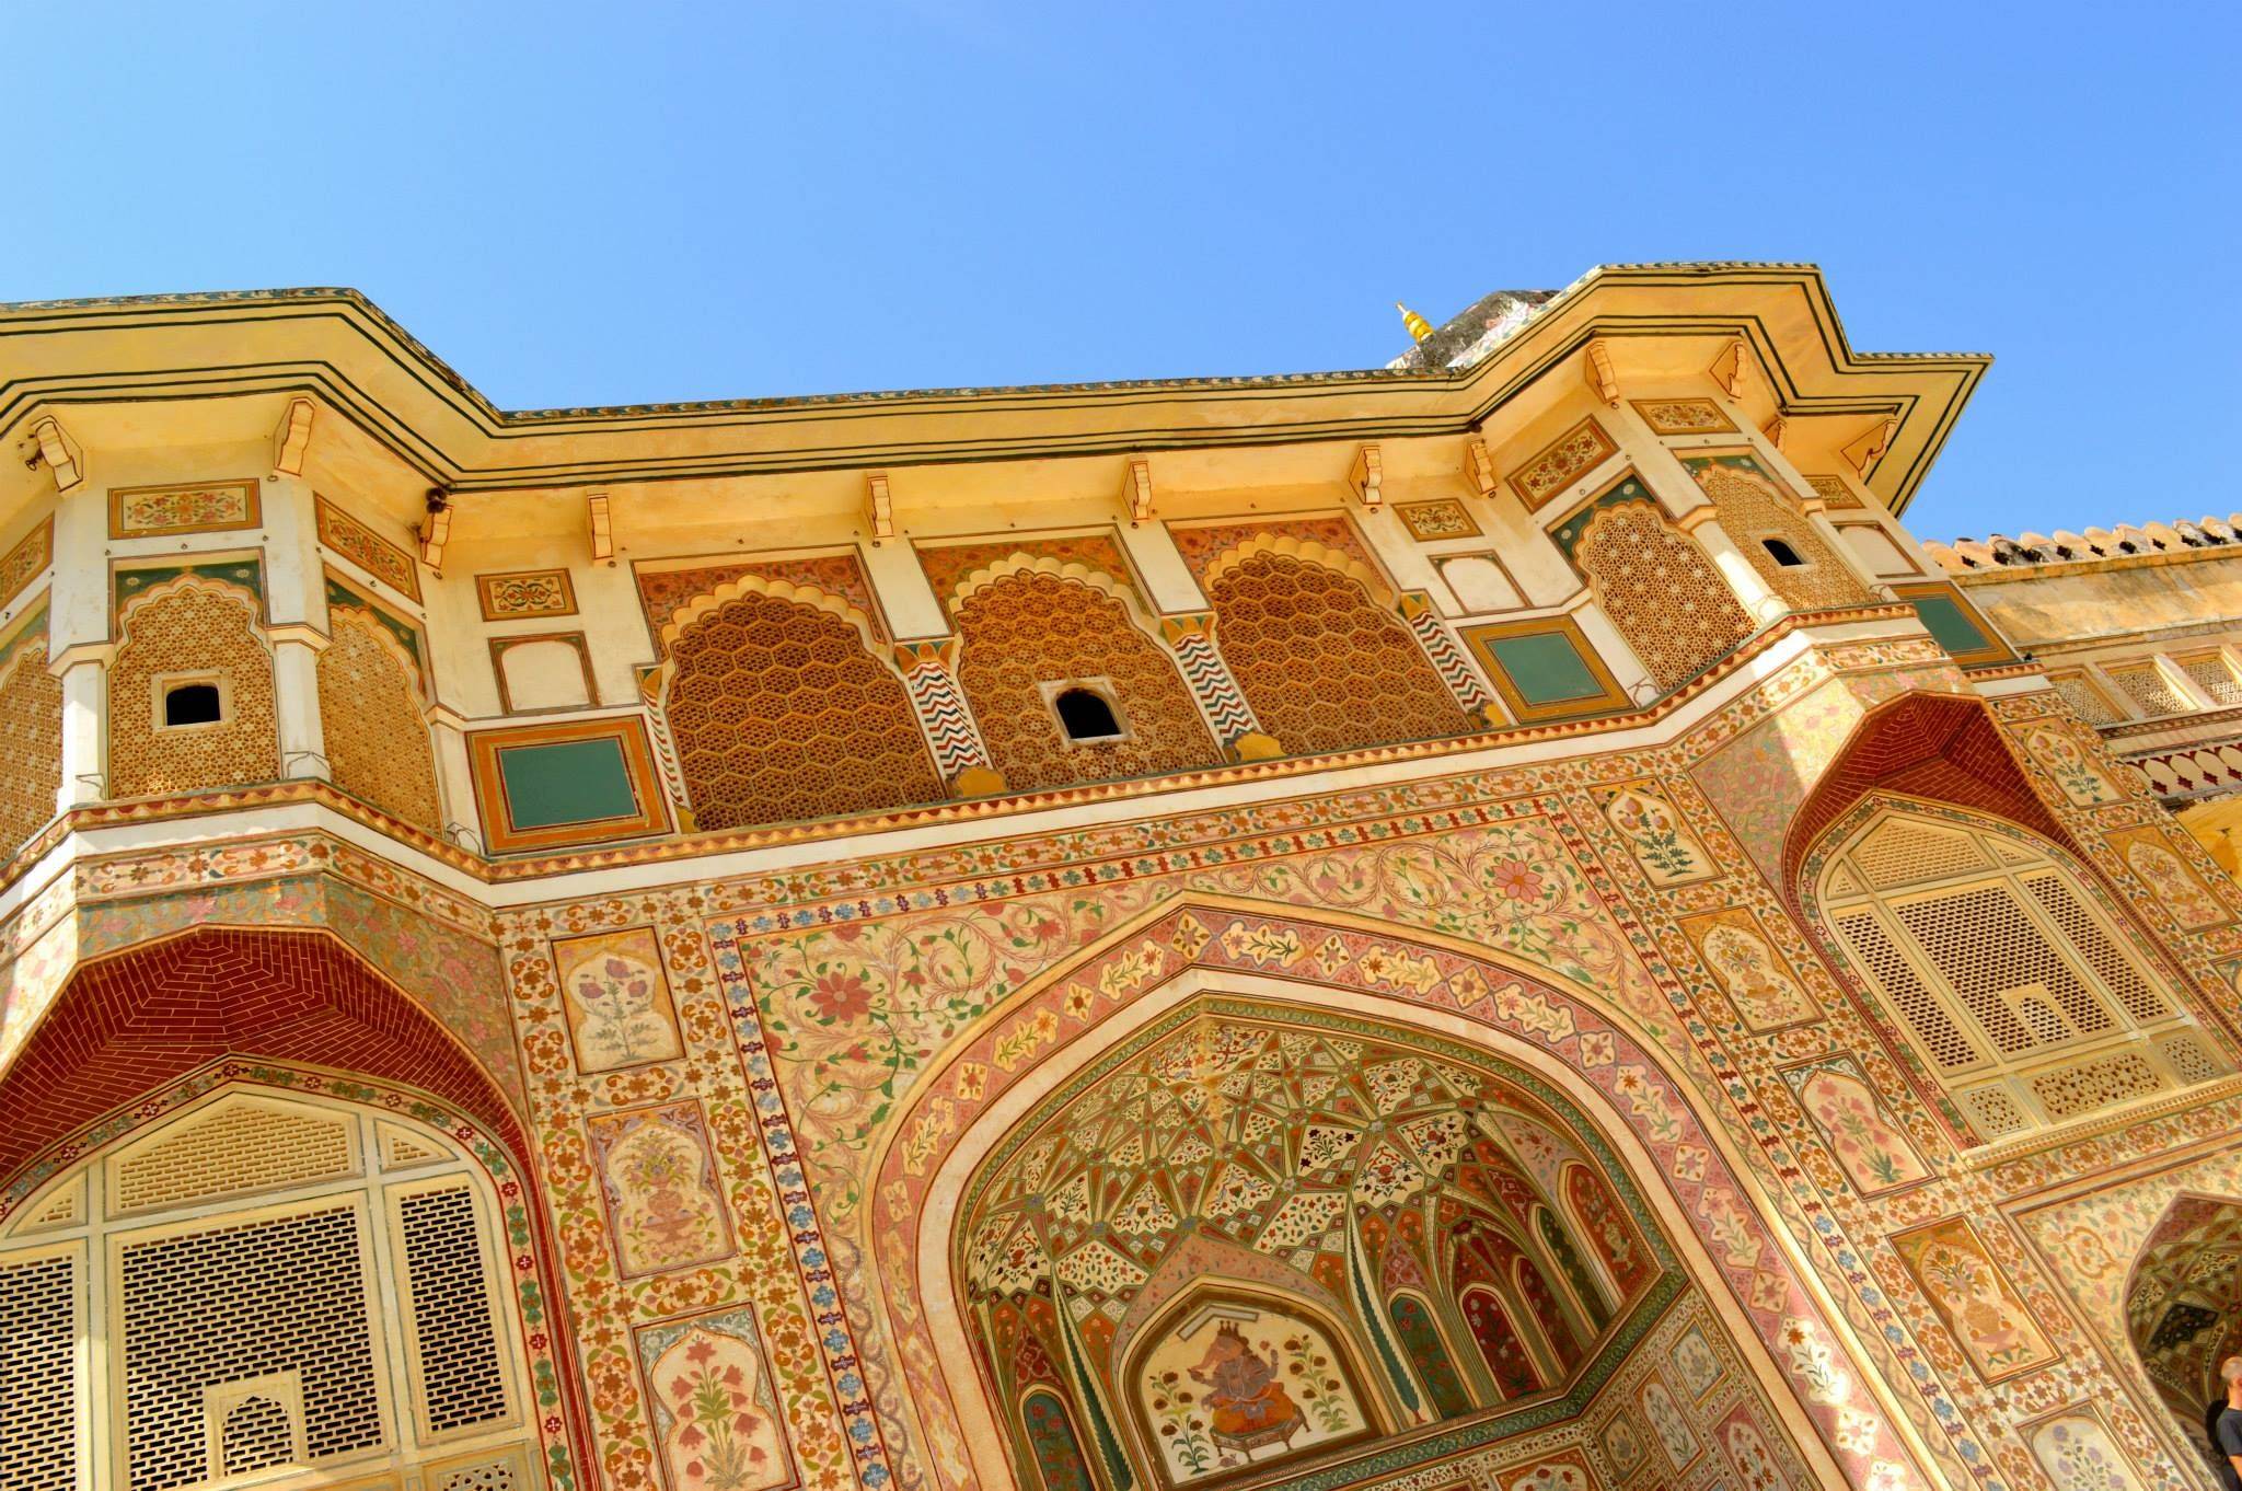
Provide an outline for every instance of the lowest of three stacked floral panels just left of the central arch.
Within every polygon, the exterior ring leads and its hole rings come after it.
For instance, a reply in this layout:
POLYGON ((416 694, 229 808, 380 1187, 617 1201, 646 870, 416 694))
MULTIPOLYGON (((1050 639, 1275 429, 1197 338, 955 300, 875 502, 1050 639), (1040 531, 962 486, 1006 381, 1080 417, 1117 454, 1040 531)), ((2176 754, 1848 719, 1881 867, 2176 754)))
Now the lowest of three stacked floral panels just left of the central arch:
POLYGON ((670 1491, 794 1484, 771 1368, 749 1309, 639 1332, 670 1491))

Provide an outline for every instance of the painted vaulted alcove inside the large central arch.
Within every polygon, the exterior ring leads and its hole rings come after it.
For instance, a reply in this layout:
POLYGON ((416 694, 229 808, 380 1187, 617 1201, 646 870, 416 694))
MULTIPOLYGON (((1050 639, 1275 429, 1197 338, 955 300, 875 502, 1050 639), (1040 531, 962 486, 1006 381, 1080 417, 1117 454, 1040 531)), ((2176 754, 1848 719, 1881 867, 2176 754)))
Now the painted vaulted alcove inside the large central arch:
POLYGON ((1025 1487, 1336 1482, 1424 1424, 1500 1433, 1625 1350, 1679 1287, 1648 1217, 1520 1072, 1208 1000, 1011 1130, 953 1269, 1025 1487))

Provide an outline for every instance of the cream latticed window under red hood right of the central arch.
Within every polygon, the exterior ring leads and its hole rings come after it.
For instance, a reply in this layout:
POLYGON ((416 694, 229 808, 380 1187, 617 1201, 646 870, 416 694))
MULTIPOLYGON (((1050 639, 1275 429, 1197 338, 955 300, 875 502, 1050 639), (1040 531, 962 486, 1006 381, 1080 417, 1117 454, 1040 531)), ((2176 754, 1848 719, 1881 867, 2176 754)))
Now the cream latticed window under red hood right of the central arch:
POLYGON ((2063 856, 1982 821, 1879 814, 1821 910, 1986 1139, 2226 1072, 2063 856))

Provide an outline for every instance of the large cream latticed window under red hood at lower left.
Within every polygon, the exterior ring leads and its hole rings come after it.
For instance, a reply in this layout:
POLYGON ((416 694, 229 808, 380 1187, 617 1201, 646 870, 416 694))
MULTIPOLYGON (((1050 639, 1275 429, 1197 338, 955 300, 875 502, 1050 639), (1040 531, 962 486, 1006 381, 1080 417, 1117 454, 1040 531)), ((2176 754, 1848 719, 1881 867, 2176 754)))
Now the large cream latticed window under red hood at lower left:
POLYGON ((451 1139, 294 1096, 83 1161, 0 1235, 0 1487, 529 1491, 495 1217, 451 1139))

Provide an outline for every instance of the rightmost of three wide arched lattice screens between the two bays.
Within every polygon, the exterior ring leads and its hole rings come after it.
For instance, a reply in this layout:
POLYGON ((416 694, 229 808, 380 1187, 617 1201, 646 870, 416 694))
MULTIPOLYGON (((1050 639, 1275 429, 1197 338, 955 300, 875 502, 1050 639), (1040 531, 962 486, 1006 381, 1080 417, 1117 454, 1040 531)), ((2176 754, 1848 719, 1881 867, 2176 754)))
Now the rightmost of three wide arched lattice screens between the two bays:
POLYGON ((1424 648, 1365 581, 1309 554, 1247 547, 1208 565, 1215 648, 1294 756, 1473 729, 1424 648))

